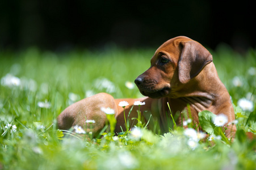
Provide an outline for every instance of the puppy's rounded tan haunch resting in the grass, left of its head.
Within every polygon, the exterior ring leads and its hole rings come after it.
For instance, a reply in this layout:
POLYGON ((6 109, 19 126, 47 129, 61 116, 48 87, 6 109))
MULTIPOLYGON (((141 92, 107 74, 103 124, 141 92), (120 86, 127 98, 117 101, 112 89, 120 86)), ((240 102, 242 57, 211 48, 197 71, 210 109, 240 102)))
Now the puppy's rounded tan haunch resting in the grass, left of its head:
POLYGON ((78 125, 87 132, 98 133, 106 124, 106 114, 101 110, 102 107, 110 107, 117 112, 114 97, 109 94, 100 93, 77 101, 58 116, 58 128, 69 130, 72 126, 78 125), (87 124, 86 120, 94 120, 95 123, 87 124))

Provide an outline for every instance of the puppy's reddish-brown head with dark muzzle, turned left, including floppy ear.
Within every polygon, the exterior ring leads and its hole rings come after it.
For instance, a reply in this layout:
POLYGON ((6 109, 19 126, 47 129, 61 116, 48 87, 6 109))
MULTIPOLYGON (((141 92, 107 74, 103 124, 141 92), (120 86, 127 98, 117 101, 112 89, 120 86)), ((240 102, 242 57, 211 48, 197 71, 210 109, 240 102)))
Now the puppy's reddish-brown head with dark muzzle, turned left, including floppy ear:
POLYGON ((177 92, 212 62, 212 55, 199 42, 179 36, 163 43, 150 62, 149 69, 135 79, 141 94, 176 98, 181 97, 177 92))

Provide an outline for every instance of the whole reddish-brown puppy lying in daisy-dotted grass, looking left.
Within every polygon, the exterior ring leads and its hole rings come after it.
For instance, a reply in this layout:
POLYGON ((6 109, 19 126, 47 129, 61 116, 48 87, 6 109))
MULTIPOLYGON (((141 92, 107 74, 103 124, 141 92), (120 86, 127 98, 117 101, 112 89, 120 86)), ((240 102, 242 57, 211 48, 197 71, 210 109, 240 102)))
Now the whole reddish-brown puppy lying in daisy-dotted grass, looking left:
MULTIPOLYGON (((142 95, 148 96, 141 99, 114 99, 108 94, 97 94, 87 97, 66 108, 58 116, 58 127, 69 129, 74 125, 85 127, 86 119, 95 120, 93 131, 100 131, 106 122, 106 115, 100 108, 110 107, 115 110, 117 120, 115 132, 125 130, 123 108, 120 101, 128 101, 125 107, 126 118, 135 101, 145 101, 141 106, 141 113, 148 118, 152 114, 153 120, 157 120, 162 131, 168 130, 167 120, 171 113, 187 112, 187 104, 190 105, 193 121, 198 123, 198 113, 204 110, 214 114, 225 114, 228 122, 232 122, 234 109, 230 96, 224 84, 221 82, 212 55, 199 42, 188 37, 179 36, 163 43, 151 59, 151 66, 135 80, 142 95)), ((133 108, 129 118, 137 117, 137 108, 133 108)), ((181 115, 177 119, 177 125, 182 125, 181 115)), ((136 124, 136 122, 135 122, 136 124)), ((228 126, 228 123, 226 124, 228 126)), ((236 133, 236 126, 230 125, 225 131, 227 137, 236 133)))

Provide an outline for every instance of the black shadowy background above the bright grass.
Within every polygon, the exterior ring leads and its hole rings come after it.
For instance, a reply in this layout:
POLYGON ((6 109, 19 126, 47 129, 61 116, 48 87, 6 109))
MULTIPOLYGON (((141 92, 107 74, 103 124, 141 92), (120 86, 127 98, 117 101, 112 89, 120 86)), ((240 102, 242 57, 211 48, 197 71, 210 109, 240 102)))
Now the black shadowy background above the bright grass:
POLYGON ((179 35, 255 48, 253 1, 0 1, 0 49, 153 47, 179 35))

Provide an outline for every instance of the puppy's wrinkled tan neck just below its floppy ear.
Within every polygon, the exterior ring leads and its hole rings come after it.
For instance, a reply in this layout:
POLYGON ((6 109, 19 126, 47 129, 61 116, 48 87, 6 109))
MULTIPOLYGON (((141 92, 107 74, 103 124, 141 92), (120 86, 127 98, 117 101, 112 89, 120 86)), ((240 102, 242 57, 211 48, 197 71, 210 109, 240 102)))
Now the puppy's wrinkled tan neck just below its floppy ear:
POLYGON ((198 112, 209 110, 219 101, 230 100, 213 63, 209 63, 198 76, 184 84, 178 96, 198 112))

